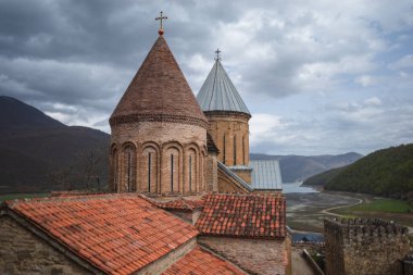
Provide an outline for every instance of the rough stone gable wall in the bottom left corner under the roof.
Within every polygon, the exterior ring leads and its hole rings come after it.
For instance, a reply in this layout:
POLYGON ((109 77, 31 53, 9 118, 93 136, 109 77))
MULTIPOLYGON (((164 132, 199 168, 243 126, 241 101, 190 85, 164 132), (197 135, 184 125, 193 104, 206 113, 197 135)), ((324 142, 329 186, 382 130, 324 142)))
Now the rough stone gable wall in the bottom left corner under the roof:
POLYGON ((91 274, 9 216, 0 216, 0 274, 91 274))

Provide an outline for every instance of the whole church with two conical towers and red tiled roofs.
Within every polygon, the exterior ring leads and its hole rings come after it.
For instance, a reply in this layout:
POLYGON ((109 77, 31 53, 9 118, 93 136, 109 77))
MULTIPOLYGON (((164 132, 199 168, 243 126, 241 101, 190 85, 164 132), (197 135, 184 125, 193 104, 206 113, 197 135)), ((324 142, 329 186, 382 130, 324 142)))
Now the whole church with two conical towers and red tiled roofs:
POLYGON ((110 117, 109 192, 3 202, 0 274, 291 274, 278 163, 250 161, 218 55, 193 96, 164 18, 110 117))

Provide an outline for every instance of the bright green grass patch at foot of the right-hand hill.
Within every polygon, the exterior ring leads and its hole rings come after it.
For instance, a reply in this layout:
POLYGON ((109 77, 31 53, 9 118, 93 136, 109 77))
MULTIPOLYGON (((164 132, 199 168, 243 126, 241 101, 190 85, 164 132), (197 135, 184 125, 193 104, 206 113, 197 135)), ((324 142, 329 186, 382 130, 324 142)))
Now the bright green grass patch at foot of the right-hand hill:
POLYGON ((340 213, 354 212, 389 212, 389 213, 413 213, 413 205, 403 200, 375 199, 370 202, 338 209, 340 213))

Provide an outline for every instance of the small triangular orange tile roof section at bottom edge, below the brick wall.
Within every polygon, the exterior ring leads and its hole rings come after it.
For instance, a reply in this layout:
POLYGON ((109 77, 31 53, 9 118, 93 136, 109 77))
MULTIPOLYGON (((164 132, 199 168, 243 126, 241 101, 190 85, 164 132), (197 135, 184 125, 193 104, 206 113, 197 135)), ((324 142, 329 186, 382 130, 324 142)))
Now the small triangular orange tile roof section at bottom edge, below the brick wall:
POLYGON ((187 253, 179 261, 167 268, 164 275, 236 275, 246 274, 209 251, 199 247, 187 253))

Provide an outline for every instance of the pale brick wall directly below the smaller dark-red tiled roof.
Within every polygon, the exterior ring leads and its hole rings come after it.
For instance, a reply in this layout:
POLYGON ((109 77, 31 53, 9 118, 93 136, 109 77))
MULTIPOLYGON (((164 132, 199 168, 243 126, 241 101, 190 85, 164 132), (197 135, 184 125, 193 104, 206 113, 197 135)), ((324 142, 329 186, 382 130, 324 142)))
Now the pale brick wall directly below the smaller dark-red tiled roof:
POLYGON ((198 242, 251 274, 286 274, 287 246, 283 240, 201 236, 198 242))

